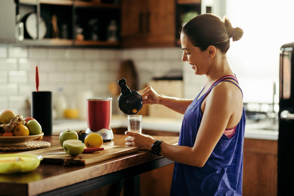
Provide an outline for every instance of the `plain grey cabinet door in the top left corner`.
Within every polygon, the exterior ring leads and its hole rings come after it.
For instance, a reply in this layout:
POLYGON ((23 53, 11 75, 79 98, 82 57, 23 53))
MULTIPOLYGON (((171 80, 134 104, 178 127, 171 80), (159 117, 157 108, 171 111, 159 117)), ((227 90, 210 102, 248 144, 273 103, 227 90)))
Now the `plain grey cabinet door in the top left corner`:
POLYGON ((11 0, 0 0, 0 5, 0 43, 13 43, 16 5, 11 0))

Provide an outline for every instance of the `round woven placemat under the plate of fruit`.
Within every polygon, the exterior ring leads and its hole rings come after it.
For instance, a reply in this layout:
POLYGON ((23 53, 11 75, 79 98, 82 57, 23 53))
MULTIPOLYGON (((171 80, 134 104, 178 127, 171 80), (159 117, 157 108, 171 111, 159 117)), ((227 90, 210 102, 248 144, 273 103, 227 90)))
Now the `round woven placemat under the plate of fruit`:
POLYGON ((51 146, 50 142, 33 140, 33 141, 29 141, 26 145, 0 146, 0 151, 37 150, 37 149, 40 149, 40 148, 48 148, 49 146, 51 146))

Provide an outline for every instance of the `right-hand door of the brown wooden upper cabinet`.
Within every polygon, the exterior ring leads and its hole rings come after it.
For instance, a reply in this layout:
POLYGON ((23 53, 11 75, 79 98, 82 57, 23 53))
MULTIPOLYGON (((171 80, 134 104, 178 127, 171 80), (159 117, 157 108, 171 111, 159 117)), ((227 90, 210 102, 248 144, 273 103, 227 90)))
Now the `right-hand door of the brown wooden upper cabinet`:
POLYGON ((176 2, 174 0, 148 0, 147 2, 149 7, 146 13, 148 44, 173 46, 176 36, 176 2))

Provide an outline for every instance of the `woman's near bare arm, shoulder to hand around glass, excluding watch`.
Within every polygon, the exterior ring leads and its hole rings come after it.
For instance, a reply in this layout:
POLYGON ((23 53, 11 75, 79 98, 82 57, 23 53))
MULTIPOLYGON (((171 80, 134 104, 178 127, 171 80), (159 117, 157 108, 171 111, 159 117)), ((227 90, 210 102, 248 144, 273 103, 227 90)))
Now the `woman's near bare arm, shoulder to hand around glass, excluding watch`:
MULTIPOLYGON (((178 163, 202 167, 223 135, 232 115, 232 107, 235 107, 233 99, 227 86, 215 86, 206 98, 205 111, 193 148, 163 142, 159 154, 178 163)), ((125 134, 133 136, 125 139, 126 145, 137 146, 140 150, 151 150, 151 145, 156 141, 149 135, 128 131, 125 134)))

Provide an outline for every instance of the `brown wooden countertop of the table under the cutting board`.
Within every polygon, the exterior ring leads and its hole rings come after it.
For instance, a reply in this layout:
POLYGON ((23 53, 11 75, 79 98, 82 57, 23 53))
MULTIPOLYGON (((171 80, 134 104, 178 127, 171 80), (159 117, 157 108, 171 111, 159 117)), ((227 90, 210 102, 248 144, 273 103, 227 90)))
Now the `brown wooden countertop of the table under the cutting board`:
MULTIPOLYGON (((126 135, 114 134, 113 141, 103 143, 103 145, 125 146, 124 139, 126 137, 126 135)), ((170 144, 178 143, 177 136, 153 137, 170 144)), ((44 136, 43 140, 50 142, 51 146, 60 145, 59 133, 52 136, 44 136)), ((20 152, 23 151, 0 151, 0 154, 20 152)), ((29 173, 0 175, 1 195, 37 195, 162 158, 163 157, 154 155, 151 153, 151 151, 138 150, 137 153, 93 163, 86 166, 65 167, 62 165, 41 163, 40 166, 36 168, 36 170, 29 173)))

